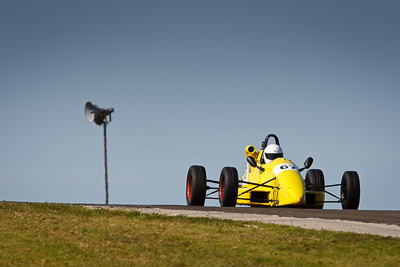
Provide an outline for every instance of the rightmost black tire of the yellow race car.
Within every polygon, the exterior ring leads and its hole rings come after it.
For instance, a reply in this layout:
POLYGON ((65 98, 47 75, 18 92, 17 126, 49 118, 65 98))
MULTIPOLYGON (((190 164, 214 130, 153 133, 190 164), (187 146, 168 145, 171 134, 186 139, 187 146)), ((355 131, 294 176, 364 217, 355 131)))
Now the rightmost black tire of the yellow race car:
POLYGON ((357 172, 346 171, 343 174, 340 196, 344 210, 358 209, 360 204, 360 178, 357 172))

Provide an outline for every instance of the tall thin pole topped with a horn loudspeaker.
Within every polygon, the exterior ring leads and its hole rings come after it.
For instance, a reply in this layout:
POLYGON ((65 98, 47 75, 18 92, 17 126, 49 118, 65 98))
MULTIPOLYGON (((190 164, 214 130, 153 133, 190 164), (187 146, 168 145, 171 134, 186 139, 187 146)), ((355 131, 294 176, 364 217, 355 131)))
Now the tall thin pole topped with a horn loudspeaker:
POLYGON ((96 105, 93 105, 92 102, 88 101, 85 105, 85 117, 89 123, 93 121, 97 125, 103 124, 104 129, 104 179, 105 179, 105 189, 106 189, 106 205, 108 205, 108 170, 107 170, 107 116, 110 117, 111 122, 111 113, 114 112, 114 108, 99 108, 96 105))

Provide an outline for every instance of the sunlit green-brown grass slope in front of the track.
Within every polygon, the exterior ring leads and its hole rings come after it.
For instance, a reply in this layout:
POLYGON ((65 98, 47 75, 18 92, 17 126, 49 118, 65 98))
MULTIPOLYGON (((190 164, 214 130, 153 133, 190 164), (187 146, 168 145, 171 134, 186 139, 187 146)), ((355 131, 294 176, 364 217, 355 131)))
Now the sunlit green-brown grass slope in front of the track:
POLYGON ((0 266, 400 266, 400 239, 0 202, 0 266))

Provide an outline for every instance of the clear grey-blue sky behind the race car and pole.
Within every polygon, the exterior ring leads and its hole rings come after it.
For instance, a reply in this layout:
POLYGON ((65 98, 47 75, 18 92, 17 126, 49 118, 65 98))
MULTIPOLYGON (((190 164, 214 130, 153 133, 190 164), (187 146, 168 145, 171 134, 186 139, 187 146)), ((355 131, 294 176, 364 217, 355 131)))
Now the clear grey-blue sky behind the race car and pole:
MULTIPOLYGON (((398 1, 0 2, 0 200, 186 205, 269 133, 360 209, 400 209, 398 1)), ((305 173, 305 172, 304 172, 305 173)), ((338 193, 337 190, 333 192, 338 193)), ((206 205, 218 205, 207 200, 206 205)), ((340 204, 326 204, 340 209, 340 204)))

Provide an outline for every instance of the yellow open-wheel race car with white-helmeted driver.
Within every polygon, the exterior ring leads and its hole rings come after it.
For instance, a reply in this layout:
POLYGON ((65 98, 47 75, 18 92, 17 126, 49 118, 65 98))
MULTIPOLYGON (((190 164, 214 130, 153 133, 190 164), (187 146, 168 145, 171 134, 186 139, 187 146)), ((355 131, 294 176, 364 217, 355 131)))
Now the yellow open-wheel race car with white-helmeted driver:
POLYGON ((206 199, 218 199, 221 207, 236 205, 300 207, 322 209, 324 203, 341 203, 343 209, 358 209, 360 179, 355 171, 346 171, 340 184, 325 185, 324 174, 319 169, 309 169, 313 158, 297 167, 284 158, 279 139, 270 134, 265 137, 259 151, 250 145, 245 149, 247 166, 239 179, 237 169, 225 167, 219 181, 207 179, 203 166, 189 168, 186 179, 188 206, 204 206, 206 199), (270 139, 275 143, 270 144, 270 139), (308 170, 305 178, 301 172, 308 170), (340 186, 340 196, 328 192, 329 187, 340 186), (218 197, 213 194, 218 193, 218 197), (334 200, 325 200, 325 194, 334 200))

